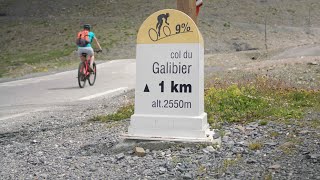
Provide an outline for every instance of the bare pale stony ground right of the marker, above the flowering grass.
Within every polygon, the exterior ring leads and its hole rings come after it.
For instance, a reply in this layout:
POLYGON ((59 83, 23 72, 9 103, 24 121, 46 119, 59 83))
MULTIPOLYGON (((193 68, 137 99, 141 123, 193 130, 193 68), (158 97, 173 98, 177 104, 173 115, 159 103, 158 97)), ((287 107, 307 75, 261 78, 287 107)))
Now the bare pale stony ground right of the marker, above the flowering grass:
POLYGON ((263 76, 281 81, 284 86, 319 90, 320 87, 320 54, 290 57, 286 52, 295 50, 296 53, 307 52, 302 46, 285 50, 284 53, 276 53, 268 56, 259 51, 242 51, 238 53, 220 53, 206 55, 205 74, 206 82, 222 81, 239 82, 263 76), (278 55, 284 54, 285 57, 278 55))

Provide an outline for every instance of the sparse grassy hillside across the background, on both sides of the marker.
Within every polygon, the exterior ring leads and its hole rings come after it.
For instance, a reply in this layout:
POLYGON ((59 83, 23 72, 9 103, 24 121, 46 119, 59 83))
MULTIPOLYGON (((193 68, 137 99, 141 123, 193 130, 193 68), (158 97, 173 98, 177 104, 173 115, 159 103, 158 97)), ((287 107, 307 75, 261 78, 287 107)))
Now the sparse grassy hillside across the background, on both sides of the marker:
MULTIPOLYGON (((269 48, 319 40, 318 31, 307 33, 308 27, 320 26, 318 0, 268 2, 205 1, 199 28, 206 39, 206 53, 235 51, 243 45, 263 49, 265 12, 270 25, 269 48)), ((175 8, 175 0, 0 0, 0 14, 6 15, 0 16, 0 24, 6 25, 0 29, 5 42, 0 47, 0 58, 7 64, 1 66, 0 77, 76 67, 74 39, 82 23, 93 25, 107 52, 98 59, 133 58, 139 26, 151 13, 164 8, 175 8)))

